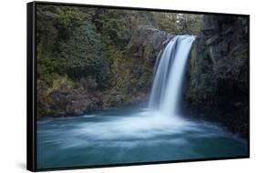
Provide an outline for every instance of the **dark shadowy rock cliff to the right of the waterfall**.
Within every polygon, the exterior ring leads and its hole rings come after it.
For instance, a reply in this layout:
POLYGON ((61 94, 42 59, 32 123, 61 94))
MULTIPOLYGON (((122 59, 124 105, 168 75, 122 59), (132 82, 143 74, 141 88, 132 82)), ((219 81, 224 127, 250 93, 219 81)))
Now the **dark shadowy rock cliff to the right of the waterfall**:
POLYGON ((204 15, 201 35, 191 50, 186 105, 247 137, 248 63, 247 18, 204 15))

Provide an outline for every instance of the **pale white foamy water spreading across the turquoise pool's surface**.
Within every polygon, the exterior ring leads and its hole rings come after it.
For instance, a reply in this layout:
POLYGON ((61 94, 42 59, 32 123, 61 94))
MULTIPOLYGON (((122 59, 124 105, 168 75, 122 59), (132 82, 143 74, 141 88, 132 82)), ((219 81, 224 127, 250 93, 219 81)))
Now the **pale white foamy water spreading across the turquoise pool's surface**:
MULTIPOLYGON (((159 144, 183 146, 189 144, 189 139, 184 136, 228 135, 220 127, 210 123, 196 123, 181 117, 166 117, 148 109, 138 109, 132 113, 127 109, 117 109, 97 115, 58 118, 41 123, 39 126, 50 126, 44 130, 44 137, 49 137, 50 140, 45 139, 42 142, 45 145, 53 143, 59 148, 136 148, 141 145, 159 144), (113 116, 113 113, 118 115, 113 116)), ((39 135, 41 132, 39 129, 39 135)))

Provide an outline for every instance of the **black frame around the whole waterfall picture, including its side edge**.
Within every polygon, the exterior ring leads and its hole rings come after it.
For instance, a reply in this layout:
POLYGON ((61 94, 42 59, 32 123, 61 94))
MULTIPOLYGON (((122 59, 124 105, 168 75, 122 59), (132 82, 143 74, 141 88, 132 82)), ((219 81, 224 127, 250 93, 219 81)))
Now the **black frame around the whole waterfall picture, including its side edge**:
MULTIPOLYGON (((31 2, 26 4, 26 28, 27 28, 27 74, 26 74, 26 168, 30 171, 49 171, 49 170, 63 170, 63 169, 77 169, 77 168, 110 168, 110 167, 123 167, 123 166, 138 166, 138 165, 151 165, 151 164, 166 164, 177 162, 192 162, 192 161, 208 161, 208 160, 224 160, 236 158, 250 158, 250 126, 248 135, 248 156, 245 157, 227 157, 227 158, 201 158, 201 159, 183 159, 175 161, 156 161, 156 162, 143 162, 143 163, 129 163, 129 164, 113 164, 113 165, 97 165, 85 167, 67 167, 67 168, 36 168, 36 5, 71 5, 71 6, 85 6, 85 7, 98 7, 98 8, 111 8, 123 10, 138 10, 138 11, 155 11, 155 12, 171 12, 171 13, 184 13, 184 14, 200 14, 200 15, 236 15, 248 18, 249 25, 249 63, 248 68, 250 72, 250 15, 241 14, 224 14, 224 13, 211 13, 199 11, 183 11, 183 10, 169 10, 169 9, 154 9, 154 8, 141 8, 129 6, 112 6, 112 5, 84 5, 72 3, 56 3, 56 2, 31 2)), ((249 73, 249 118, 248 125, 250 125, 250 73, 249 73)))

